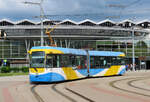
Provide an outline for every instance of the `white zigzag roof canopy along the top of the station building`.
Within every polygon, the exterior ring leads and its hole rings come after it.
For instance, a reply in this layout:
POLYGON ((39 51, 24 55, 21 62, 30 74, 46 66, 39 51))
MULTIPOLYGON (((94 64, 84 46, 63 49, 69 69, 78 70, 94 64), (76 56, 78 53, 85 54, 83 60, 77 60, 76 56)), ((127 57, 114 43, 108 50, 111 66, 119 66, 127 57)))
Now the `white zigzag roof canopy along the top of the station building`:
MULTIPOLYGON (((29 19, 20 20, 17 22, 10 21, 8 19, 2 19, 0 20, 0 26, 13 26, 13 25, 40 25, 41 22, 33 22, 29 19)), ((125 19, 121 22, 114 22, 112 20, 106 19, 100 22, 95 22, 90 19, 86 19, 80 22, 75 22, 69 19, 63 20, 63 21, 52 21, 49 19, 45 19, 43 21, 44 25, 81 25, 81 26, 106 26, 106 27, 112 27, 112 26, 121 26, 121 27, 131 27, 134 25, 138 25, 143 27, 143 24, 146 25, 146 27, 150 27, 150 21, 149 20, 143 20, 139 22, 133 22, 129 19, 125 19)), ((145 26, 144 26, 145 27, 145 26)))

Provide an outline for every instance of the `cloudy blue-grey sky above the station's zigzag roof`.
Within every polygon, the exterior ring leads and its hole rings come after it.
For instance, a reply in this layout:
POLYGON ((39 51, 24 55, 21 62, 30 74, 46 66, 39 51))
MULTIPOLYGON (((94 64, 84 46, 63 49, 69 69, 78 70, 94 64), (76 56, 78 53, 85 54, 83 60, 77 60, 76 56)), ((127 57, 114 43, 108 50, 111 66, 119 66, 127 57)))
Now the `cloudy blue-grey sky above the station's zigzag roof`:
MULTIPOLYGON (((41 0, 0 0, 0 19, 39 21, 39 18, 35 18, 40 15, 39 6, 24 4, 25 1, 41 0)), ((45 19, 74 21, 150 20, 149 5, 150 0, 44 0, 42 3, 44 14, 47 15, 45 19)))

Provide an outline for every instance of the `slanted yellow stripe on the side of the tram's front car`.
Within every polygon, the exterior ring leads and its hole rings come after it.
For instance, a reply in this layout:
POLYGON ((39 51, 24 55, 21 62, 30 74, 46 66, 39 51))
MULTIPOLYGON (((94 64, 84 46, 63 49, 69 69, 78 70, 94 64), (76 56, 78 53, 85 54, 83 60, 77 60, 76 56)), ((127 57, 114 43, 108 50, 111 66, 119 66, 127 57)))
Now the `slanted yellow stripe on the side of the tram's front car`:
POLYGON ((76 72, 72 69, 72 67, 63 67, 62 69, 67 77, 67 80, 68 79, 72 80, 72 79, 78 78, 76 72))

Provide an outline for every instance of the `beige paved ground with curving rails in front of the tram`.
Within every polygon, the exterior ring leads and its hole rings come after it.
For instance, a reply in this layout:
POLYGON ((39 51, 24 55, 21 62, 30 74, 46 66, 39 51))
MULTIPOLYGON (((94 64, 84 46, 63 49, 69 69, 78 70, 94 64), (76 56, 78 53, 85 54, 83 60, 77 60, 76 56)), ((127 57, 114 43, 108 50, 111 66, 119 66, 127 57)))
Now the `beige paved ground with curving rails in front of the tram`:
POLYGON ((30 85, 28 76, 0 77, 0 102, 150 102, 150 71, 30 85), (34 92, 33 92, 34 91, 34 92))

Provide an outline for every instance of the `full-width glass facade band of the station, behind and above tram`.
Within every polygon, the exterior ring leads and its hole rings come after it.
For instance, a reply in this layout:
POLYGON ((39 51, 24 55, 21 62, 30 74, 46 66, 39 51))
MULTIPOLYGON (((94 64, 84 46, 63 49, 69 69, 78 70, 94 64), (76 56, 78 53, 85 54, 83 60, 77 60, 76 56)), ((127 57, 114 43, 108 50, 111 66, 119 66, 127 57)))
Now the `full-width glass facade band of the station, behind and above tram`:
MULTIPOLYGON (((55 39, 58 47, 89 49, 99 51, 120 51, 124 52, 127 57, 132 57, 132 41, 127 40, 60 40, 55 39)), ((49 41, 45 41, 49 45, 49 41)), ((27 57, 27 51, 32 46, 40 46, 40 41, 0 40, 0 58, 24 59, 27 57)), ((135 57, 150 56, 150 41, 135 40, 135 57)))

